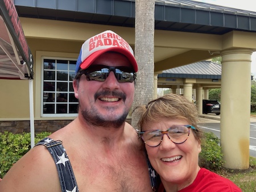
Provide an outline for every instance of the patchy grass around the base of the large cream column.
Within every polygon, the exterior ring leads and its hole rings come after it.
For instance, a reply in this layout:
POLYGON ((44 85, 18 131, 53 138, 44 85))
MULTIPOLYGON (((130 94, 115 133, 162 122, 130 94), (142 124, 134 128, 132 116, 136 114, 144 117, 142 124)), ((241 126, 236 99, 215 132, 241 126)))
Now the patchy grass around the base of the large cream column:
POLYGON ((244 192, 256 191, 256 158, 250 157, 249 169, 222 169, 218 174, 233 181, 244 192))

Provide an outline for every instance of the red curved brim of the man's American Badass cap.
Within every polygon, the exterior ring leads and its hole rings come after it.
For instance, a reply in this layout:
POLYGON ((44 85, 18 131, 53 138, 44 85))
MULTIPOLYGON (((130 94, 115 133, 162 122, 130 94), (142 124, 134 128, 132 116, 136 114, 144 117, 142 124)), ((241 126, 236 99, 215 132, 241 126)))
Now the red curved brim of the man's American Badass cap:
POLYGON ((96 52, 92 53, 92 55, 87 57, 81 63, 80 68, 81 69, 88 68, 88 66, 90 66, 90 64, 92 64, 92 62, 94 60, 96 60, 97 57, 99 57, 100 55, 102 55, 103 53, 108 52, 108 51, 118 52, 118 53, 121 53, 122 55, 126 56, 127 59, 131 62, 131 65, 133 66, 134 72, 138 71, 138 65, 137 65, 137 62, 136 62, 134 56, 129 51, 127 51, 126 49, 120 48, 120 47, 111 47, 111 48, 108 48, 108 49, 103 49, 103 50, 96 51, 96 52))

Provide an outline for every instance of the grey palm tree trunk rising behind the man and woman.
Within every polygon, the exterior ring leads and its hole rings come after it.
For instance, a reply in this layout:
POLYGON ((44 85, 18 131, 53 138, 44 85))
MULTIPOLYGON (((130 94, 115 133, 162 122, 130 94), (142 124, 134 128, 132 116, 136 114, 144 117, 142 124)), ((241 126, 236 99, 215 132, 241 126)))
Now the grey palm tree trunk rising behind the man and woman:
MULTIPOLYGON (((138 62, 137 82, 133 109, 146 105, 154 95, 154 30, 155 0, 135 1, 135 58, 138 62)), ((131 125, 136 128, 136 112, 131 115, 131 125)))

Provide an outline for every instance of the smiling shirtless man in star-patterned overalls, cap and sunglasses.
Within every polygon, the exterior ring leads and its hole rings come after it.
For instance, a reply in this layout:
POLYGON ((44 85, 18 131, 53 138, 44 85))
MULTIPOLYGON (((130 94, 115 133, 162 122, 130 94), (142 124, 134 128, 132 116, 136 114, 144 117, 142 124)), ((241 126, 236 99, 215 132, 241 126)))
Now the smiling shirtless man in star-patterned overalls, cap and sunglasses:
POLYGON ((77 118, 16 162, 0 191, 152 191, 142 145, 125 122, 137 70, 130 45, 113 31, 86 40, 73 81, 77 118))

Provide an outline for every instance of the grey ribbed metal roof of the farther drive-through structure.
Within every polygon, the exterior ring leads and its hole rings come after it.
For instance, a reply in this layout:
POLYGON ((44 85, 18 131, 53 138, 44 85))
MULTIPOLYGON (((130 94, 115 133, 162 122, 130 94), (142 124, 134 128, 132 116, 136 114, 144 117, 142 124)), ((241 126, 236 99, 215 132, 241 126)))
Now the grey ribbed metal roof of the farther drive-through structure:
POLYGON ((203 79, 221 79, 221 65, 212 61, 200 61, 193 64, 179 66, 164 70, 158 75, 164 78, 203 78, 203 79))

